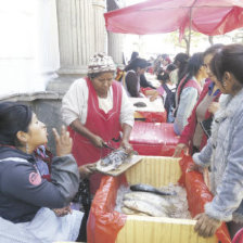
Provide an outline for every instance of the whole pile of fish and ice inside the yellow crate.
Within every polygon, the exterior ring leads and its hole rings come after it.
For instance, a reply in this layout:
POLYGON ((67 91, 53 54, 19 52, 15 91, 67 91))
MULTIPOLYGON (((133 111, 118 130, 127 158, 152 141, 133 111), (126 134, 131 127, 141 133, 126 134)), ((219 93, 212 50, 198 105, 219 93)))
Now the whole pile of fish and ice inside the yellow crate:
POLYGON ((186 190, 171 184, 163 190, 149 184, 122 186, 115 210, 127 215, 190 218, 186 190))

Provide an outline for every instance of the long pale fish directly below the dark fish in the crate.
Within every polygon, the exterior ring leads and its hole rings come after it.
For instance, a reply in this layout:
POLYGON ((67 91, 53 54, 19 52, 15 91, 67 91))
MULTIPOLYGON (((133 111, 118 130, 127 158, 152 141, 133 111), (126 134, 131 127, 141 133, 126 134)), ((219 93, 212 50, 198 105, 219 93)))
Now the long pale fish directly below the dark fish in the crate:
POLYGON ((166 201, 164 197, 150 192, 130 192, 124 195, 124 200, 140 200, 156 206, 157 208, 164 208, 166 213, 172 213, 175 205, 166 201))

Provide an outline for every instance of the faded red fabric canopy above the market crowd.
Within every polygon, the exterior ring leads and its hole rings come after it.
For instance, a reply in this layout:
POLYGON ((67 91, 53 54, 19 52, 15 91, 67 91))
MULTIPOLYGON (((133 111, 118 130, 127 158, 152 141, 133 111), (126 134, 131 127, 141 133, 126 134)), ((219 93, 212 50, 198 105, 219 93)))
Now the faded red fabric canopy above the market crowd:
POLYGON ((243 27, 242 0, 149 0, 104 14, 113 33, 159 34, 190 27, 208 36, 243 27), (190 25, 191 20, 191 25, 190 25))

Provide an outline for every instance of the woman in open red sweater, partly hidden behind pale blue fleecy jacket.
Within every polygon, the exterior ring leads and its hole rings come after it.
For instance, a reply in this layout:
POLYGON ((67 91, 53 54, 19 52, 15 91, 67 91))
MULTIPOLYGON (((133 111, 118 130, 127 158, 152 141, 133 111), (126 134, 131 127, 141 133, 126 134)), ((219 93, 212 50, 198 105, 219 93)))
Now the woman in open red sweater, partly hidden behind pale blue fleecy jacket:
POLYGON ((189 150, 190 154, 193 154, 194 152, 201 151, 206 145, 208 135, 205 133, 201 125, 203 120, 207 120, 209 127, 209 123, 218 108, 218 99, 220 97, 218 87, 210 80, 212 72, 209 64, 215 53, 221 48, 222 44, 214 44, 203 54, 203 65, 206 68, 208 78, 188 119, 188 125, 181 132, 174 156, 180 156, 182 150, 189 150))

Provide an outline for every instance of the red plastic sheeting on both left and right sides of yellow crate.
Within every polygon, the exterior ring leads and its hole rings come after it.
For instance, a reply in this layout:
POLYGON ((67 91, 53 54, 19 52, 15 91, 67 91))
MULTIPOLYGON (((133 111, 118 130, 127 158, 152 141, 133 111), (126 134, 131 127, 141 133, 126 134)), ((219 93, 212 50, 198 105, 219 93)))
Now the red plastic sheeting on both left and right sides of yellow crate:
MULTIPOLYGON (((180 184, 186 187, 189 209, 192 217, 204 212, 204 205, 210 202, 213 195, 208 191, 200 172, 188 172, 191 156, 180 161, 182 176, 180 184)), ((127 184, 124 175, 119 177, 103 177, 89 214, 87 234, 88 243, 115 243, 119 230, 124 227, 127 216, 114 210, 117 189, 127 184)), ((225 223, 217 230, 216 235, 221 243, 230 243, 230 236, 225 223)))

